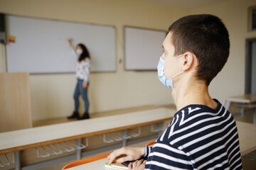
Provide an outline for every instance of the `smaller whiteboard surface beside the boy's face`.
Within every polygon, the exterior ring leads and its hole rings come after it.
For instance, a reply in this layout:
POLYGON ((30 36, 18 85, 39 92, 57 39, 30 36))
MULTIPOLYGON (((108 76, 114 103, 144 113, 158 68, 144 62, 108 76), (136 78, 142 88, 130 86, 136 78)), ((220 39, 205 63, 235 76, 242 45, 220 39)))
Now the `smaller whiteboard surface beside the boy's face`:
POLYGON ((156 70, 166 34, 164 30, 124 27, 125 69, 156 70))

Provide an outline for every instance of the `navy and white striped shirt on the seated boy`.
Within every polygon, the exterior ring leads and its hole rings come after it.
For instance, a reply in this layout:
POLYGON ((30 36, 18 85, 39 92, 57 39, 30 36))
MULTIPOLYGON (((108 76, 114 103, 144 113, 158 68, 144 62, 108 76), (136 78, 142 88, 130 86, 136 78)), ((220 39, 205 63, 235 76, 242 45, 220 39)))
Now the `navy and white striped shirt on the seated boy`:
POLYGON ((146 147, 145 169, 242 169, 238 129, 219 101, 217 108, 189 105, 146 147))

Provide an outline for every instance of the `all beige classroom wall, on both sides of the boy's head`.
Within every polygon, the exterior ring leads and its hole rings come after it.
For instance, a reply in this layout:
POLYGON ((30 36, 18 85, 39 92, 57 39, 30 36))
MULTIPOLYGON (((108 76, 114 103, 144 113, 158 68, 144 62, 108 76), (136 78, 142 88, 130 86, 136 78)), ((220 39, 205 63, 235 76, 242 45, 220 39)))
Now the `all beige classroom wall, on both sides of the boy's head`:
MULTIPOLYGON (((123 26, 166 30, 181 16, 213 13, 230 31, 230 58, 210 85, 211 96, 222 102, 226 96, 244 93, 245 38, 256 37, 255 32, 247 33, 247 7, 253 5, 255 1, 227 0, 203 8, 181 9, 141 0, 0 0, 0 12, 115 26, 117 61, 124 60, 123 26)), ((74 88, 75 74, 32 74, 33 120, 69 115, 73 111, 74 88)), ((117 62, 117 72, 91 74, 89 99, 90 113, 173 103, 171 91, 158 81, 156 72, 127 72, 123 62, 117 62)))

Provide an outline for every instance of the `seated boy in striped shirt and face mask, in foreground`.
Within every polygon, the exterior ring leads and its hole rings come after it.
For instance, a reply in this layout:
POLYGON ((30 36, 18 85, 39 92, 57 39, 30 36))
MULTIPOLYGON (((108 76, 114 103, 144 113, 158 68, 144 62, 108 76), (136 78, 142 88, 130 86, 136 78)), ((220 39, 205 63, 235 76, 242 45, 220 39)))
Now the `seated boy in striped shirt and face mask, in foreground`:
POLYGON ((208 93, 228 60, 228 30, 216 16, 185 16, 169 27, 163 48, 158 76, 173 89, 174 119, 154 147, 117 149, 109 164, 144 155, 129 169, 242 169, 235 120, 208 93))

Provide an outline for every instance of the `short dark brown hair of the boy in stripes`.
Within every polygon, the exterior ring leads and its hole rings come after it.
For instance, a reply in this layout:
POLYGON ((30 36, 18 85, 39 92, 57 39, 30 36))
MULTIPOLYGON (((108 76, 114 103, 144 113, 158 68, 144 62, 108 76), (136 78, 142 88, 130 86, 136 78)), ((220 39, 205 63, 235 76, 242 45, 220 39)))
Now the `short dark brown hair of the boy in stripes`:
POLYGON ((169 27, 174 56, 192 52, 198 60, 196 77, 207 85, 228 60, 228 30, 217 16, 201 14, 185 16, 169 27))

